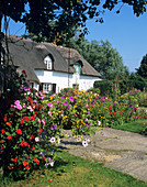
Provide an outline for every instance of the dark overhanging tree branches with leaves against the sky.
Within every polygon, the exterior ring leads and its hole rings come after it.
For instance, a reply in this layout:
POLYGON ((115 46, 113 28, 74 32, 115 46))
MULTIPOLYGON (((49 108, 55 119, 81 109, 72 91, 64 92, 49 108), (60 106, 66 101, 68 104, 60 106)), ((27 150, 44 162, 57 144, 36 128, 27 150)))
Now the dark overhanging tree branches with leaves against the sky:
MULTIPOLYGON (((97 18, 95 21, 102 23, 103 10, 112 10, 118 2, 114 0, 105 0, 101 3, 95 0, 4 0, 0 1, 0 20, 2 16, 9 16, 13 21, 22 22, 26 25, 29 33, 35 34, 37 41, 48 37, 54 41, 57 35, 67 33, 69 28, 82 28, 86 34, 86 21, 97 18), (54 22, 53 22, 54 21, 54 22)), ((146 1, 136 1, 132 3, 134 13, 138 16, 146 11, 146 1)), ((120 9, 116 10, 120 12, 120 9)))

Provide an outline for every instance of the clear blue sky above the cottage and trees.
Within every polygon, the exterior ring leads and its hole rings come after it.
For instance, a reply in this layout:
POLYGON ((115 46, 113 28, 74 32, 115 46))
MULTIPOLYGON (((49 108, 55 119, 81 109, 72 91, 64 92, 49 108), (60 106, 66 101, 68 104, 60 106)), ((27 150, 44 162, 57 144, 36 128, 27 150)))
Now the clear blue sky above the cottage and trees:
MULTIPOLYGON (((88 20, 89 34, 86 37, 88 41, 108 40, 123 57, 123 64, 128 70, 135 72, 135 68, 140 66, 143 56, 147 54, 147 13, 137 18, 133 14, 132 8, 125 4, 120 14, 106 11, 103 19, 102 24, 88 20)), ((24 32, 23 24, 10 22, 9 33, 22 35, 24 32)))

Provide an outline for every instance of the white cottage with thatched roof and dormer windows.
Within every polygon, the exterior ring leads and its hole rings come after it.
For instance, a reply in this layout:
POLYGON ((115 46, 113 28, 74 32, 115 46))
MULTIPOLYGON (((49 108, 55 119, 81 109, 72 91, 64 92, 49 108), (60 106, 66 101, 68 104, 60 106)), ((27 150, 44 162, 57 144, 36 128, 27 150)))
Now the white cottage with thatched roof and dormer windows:
POLYGON ((72 87, 87 90, 101 80, 101 75, 74 48, 14 35, 9 35, 8 44, 11 62, 19 73, 26 72, 27 80, 37 90, 59 92, 72 87))

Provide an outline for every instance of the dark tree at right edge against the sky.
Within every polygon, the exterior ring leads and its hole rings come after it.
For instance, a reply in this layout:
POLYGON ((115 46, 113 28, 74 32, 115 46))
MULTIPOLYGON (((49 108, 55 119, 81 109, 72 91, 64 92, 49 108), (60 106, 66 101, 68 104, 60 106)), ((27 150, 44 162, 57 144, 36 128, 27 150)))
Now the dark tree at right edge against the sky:
POLYGON ((147 78, 147 54, 143 57, 137 74, 143 78, 147 78))

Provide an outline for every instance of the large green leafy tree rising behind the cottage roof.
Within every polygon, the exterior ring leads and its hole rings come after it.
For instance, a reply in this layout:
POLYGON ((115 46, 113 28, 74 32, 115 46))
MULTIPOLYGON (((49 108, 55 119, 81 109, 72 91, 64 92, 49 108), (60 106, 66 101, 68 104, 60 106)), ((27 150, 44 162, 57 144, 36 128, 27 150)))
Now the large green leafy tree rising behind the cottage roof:
POLYGON ((88 42, 84 36, 71 38, 70 46, 76 48, 92 67, 94 67, 103 78, 120 79, 128 77, 128 69, 123 65, 120 53, 112 47, 109 41, 88 42))

